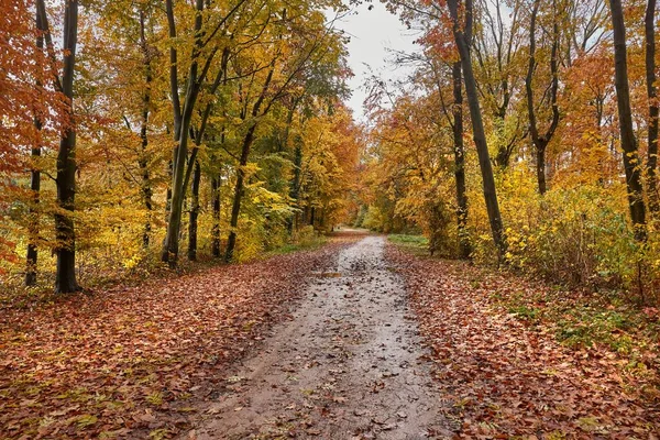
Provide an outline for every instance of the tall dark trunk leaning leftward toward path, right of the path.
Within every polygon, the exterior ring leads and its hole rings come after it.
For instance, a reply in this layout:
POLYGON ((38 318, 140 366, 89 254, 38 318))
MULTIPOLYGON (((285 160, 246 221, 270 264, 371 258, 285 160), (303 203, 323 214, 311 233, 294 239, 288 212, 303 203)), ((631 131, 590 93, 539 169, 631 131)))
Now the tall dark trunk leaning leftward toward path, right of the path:
POLYGON ((491 232, 493 234, 493 242, 497 249, 498 257, 502 261, 506 252, 506 240, 504 237, 502 215, 499 213, 499 205, 497 202, 497 191, 495 189, 493 166, 491 165, 491 157, 488 154, 488 144, 486 142, 486 134, 479 103, 479 91, 470 55, 470 44, 472 40, 472 0, 465 1, 464 29, 462 22, 459 20, 459 0, 448 0, 447 3, 453 21, 454 40, 457 42, 459 54, 461 55, 463 81, 465 82, 465 94, 468 95, 468 105, 470 107, 470 116, 472 119, 472 134, 482 173, 484 199, 486 202, 486 211, 488 212, 491 232))

